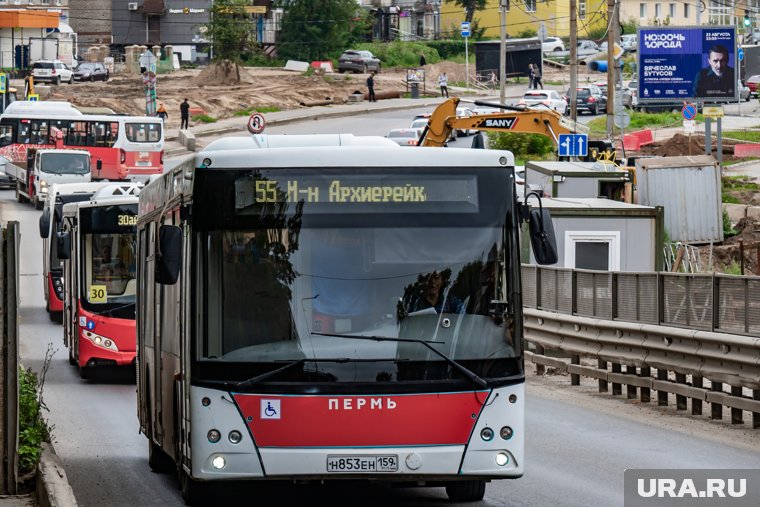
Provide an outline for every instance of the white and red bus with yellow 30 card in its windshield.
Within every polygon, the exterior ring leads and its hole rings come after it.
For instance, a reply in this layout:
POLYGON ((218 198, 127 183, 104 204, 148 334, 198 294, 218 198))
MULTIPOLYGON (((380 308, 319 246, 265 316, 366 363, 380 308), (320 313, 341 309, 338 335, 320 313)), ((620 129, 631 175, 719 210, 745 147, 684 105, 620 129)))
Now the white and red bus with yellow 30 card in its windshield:
POLYGON ((134 365, 139 188, 113 184, 63 206, 64 343, 85 379, 101 366, 134 365))

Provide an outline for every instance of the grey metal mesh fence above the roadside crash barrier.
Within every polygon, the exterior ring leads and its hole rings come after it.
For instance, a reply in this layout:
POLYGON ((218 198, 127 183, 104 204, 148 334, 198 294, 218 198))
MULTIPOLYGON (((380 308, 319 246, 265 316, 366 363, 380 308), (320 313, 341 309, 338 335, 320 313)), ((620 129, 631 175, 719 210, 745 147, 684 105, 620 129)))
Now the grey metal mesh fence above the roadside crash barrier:
POLYGON ((606 320, 760 336, 760 277, 522 267, 523 305, 606 320))

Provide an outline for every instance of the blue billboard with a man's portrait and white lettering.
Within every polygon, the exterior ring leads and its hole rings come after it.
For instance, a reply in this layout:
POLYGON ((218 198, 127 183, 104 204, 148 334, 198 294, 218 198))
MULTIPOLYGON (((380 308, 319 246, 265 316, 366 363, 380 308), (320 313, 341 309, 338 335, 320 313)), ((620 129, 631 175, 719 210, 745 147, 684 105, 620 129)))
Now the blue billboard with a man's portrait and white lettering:
POLYGON ((736 28, 639 29, 639 102, 737 100, 736 28))

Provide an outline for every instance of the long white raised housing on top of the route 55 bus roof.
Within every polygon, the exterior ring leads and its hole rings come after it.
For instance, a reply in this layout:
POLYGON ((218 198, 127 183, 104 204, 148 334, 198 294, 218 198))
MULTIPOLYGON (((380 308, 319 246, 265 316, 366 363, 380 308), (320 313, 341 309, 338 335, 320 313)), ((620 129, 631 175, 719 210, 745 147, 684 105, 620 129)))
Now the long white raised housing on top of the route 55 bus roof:
POLYGON ((212 141, 203 151, 234 149, 293 148, 296 146, 399 146, 384 137, 353 134, 258 134, 247 137, 224 137, 212 141))

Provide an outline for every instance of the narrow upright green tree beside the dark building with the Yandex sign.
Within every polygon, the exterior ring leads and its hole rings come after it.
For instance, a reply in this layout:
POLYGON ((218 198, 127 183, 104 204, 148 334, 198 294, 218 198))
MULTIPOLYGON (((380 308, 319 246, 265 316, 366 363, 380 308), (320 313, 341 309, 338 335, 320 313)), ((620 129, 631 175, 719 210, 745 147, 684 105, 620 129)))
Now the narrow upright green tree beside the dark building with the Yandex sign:
POLYGON ((214 48, 214 61, 240 63, 249 50, 252 24, 245 12, 246 0, 214 0, 207 34, 214 48))

